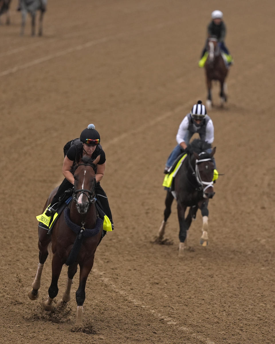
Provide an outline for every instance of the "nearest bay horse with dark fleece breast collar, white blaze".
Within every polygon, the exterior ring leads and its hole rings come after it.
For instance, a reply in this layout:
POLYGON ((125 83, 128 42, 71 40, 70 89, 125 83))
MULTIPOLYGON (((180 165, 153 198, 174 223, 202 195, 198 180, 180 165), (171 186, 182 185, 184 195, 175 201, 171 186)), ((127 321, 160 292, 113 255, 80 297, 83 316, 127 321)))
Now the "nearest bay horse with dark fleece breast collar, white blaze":
MULTIPOLYGON (((97 217, 97 210, 94 203, 96 201, 95 169, 99 159, 100 155, 94 161, 88 157, 79 158, 76 166, 72 170, 75 179, 73 194, 74 202, 70 202, 68 208, 65 208, 64 212, 59 215, 51 235, 47 234, 46 229, 38 227, 39 265, 35 279, 32 283, 32 290, 28 294, 31 300, 36 300, 39 296, 38 290, 40 288, 41 274, 48 256, 48 246, 51 243, 53 252, 52 282, 48 289, 48 298, 45 305, 51 309, 53 300, 58 293, 57 282, 64 264, 68 265, 67 287, 62 300, 57 303, 57 307, 66 304, 70 300, 70 289, 73 283, 73 277, 79 265, 79 286, 76 291, 77 316, 75 323, 78 329, 81 329, 83 326, 82 313, 83 303, 85 301, 86 281, 94 264, 96 248, 102 237, 103 220, 97 217), (77 232, 73 232, 74 229, 77 229, 77 232), (90 231, 94 232, 90 233, 90 231), (85 233, 87 233, 87 235, 85 235, 85 233), (89 233, 92 234, 92 236, 90 236, 89 233), (75 246, 78 246, 78 251, 76 251, 75 259, 71 259, 75 246), (68 262, 69 260, 70 262, 68 262)), ((56 191, 57 188, 51 192, 43 212, 51 203, 56 191)))

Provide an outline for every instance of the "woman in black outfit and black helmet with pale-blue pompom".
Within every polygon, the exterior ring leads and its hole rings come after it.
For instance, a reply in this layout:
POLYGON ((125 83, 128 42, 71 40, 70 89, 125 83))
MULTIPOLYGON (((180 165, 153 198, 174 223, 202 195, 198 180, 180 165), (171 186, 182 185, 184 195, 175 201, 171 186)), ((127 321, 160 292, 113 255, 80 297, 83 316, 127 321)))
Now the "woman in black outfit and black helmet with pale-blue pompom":
MULTIPOLYGON (((53 215, 57 208, 59 207, 60 202, 63 201, 63 195, 65 194, 65 191, 69 189, 73 189, 74 186, 74 177, 73 174, 70 172, 72 169, 72 166, 76 164, 76 159, 78 156, 81 158, 83 155, 87 155, 91 157, 92 159, 96 159, 98 155, 100 155, 99 162, 97 164, 96 168, 96 196, 101 203, 101 206, 103 208, 103 211, 105 214, 109 217, 111 223, 112 221, 112 214, 108 202, 108 198, 106 196, 106 193, 102 189, 100 185, 100 180, 103 177, 104 170, 105 170, 105 153, 99 144, 100 142, 100 135, 98 131, 95 129, 95 126, 93 124, 90 124, 88 128, 84 129, 79 139, 75 139, 72 141, 69 141, 64 146, 64 162, 63 162, 63 168, 62 173, 65 176, 65 179, 59 186, 52 202, 51 206, 48 207, 47 211, 45 212, 45 215, 51 216, 53 215), (59 198, 62 197, 62 200, 59 198)), ((112 225, 113 227, 113 225, 112 225)))

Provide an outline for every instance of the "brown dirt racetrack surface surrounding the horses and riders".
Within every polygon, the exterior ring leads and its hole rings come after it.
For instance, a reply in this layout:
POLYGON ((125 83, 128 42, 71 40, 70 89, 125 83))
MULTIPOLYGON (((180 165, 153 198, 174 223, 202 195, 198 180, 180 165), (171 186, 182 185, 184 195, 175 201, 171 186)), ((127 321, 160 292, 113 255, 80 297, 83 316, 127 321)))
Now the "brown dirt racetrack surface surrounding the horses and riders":
MULTIPOLYGON (((16 6, 0 26, 0 343, 275 343, 274 2, 49 1, 43 37, 30 36, 29 20, 19 35, 16 6), (175 205, 166 232, 174 245, 151 240, 178 125, 206 99, 197 61, 214 9, 234 57, 228 103, 209 112, 224 176, 209 204, 208 247, 199 245, 198 214, 194 250, 178 258, 175 205), (55 322, 41 315, 50 259, 40 298, 27 295, 39 261, 35 216, 62 180, 64 144, 89 123, 106 152, 101 184, 115 223, 86 287, 84 323, 94 334, 70 331, 78 273, 55 322)), ((217 86, 213 97, 217 104, 217 86)), ((57 299, 65 282, 63 268, 57 299)))

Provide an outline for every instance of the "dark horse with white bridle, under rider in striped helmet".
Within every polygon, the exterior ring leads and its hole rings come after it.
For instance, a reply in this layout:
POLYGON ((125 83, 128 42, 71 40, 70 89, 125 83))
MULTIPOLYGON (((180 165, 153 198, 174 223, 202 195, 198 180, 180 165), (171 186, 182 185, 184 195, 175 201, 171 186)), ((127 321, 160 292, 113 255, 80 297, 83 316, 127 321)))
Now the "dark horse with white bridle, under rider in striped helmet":
POLYGON ((198 208, 202 215, 202 236, 200 244, 208 244, 208 202, 214 196, 213 172, 214 163, 212 157, 216 147, 211 151, 211 144, 206 141, 195 139, 188 144, 185 152, 186 158, 181 164, 175 178, 174 190, 167 190, 165 199, 164 219, 158 230, 156 243, 162 243, 167 219, 171 214, 171 205, 174 198, 177 201, 177 212, 179 221, 179 255, 183 254, 187 247, 187 230, 192 219, 196 218, 198 208), (189 212, 185 217, 187 207, 189 212))

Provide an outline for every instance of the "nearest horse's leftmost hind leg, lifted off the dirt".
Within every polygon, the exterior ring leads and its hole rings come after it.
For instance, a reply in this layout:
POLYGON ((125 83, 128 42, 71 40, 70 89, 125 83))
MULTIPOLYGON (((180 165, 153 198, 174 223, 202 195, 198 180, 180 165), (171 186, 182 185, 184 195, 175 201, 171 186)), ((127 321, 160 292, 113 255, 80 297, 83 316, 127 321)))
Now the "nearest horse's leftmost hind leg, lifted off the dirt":
POLYGON ((48 245, 51 242, 51 236, 47 234, 47 231, 42 228, 38 228, 38 248, 39 248, 39 264, 36 271, 34 281, 32 283, 32 290, 29 291, 28 295, 31 300, 36 300, 39 297, 39 288, 42 270, 44 263, 48 257, 48 245))

